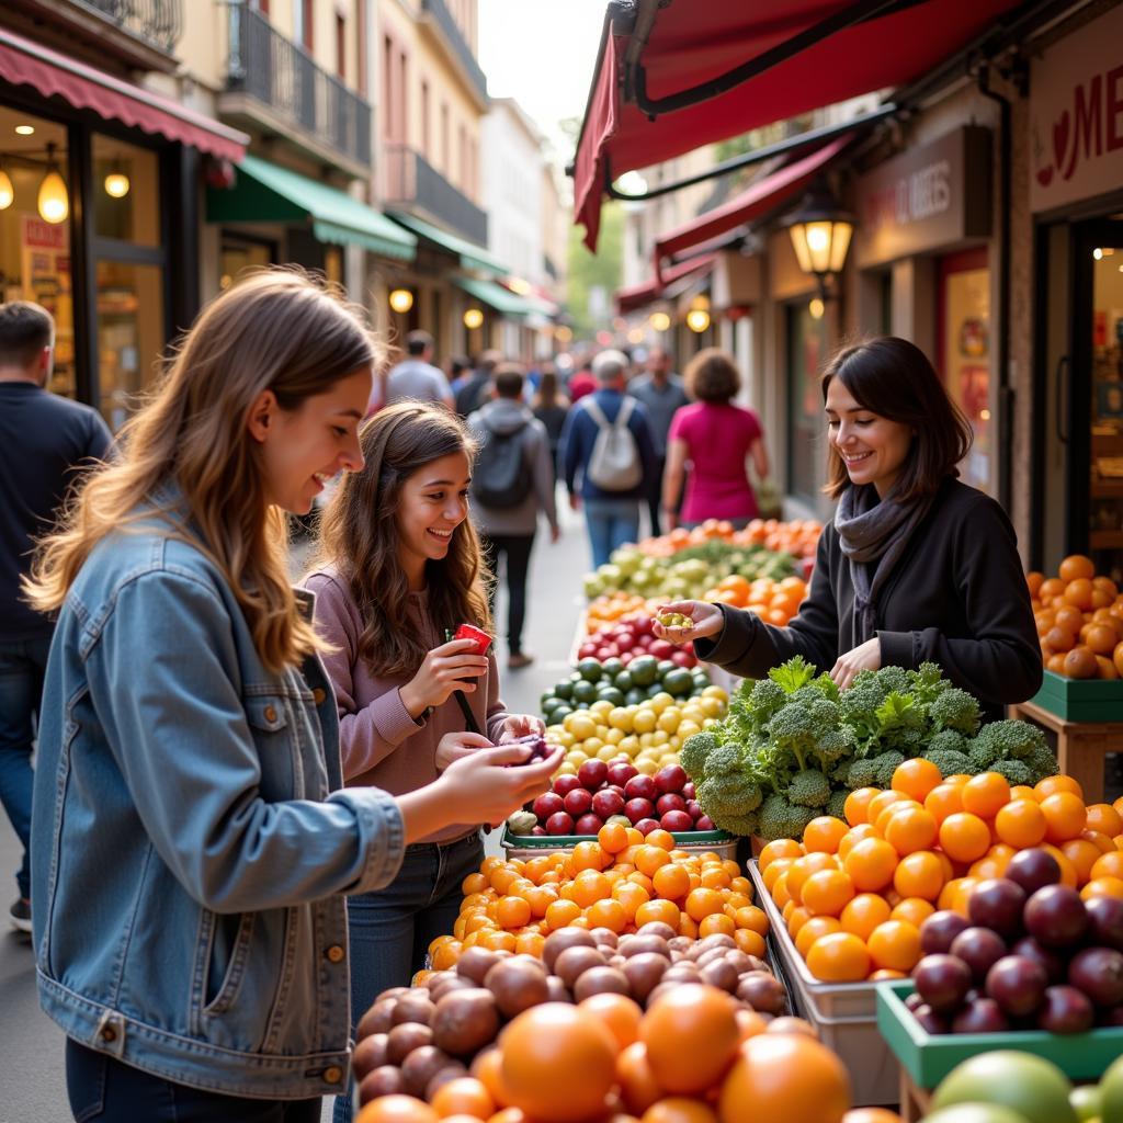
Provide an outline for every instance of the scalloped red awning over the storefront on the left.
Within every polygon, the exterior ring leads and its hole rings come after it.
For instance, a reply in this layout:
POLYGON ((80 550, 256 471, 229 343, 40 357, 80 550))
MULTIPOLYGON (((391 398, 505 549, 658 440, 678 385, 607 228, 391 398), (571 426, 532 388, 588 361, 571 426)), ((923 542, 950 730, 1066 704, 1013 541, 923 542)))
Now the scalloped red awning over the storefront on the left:
POLYGON ((13 85, 34 86, 45 98, 58 94, 76 109, 92 109, 106 120, 122 121, 220 158, 241 159, 249 143, 249 137, 237 129, 2 27, 0 79, 13 85))

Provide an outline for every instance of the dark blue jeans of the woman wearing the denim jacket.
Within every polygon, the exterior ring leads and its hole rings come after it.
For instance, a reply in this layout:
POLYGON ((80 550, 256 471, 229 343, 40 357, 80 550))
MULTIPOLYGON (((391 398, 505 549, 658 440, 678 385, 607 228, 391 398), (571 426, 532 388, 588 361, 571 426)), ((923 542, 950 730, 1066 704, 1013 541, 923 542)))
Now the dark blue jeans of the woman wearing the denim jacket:
POLYGON ((144 1072, 66 1039, 66 1094, 75 1123, 320 1123, 320 1099, 247 1099, 144 1072))

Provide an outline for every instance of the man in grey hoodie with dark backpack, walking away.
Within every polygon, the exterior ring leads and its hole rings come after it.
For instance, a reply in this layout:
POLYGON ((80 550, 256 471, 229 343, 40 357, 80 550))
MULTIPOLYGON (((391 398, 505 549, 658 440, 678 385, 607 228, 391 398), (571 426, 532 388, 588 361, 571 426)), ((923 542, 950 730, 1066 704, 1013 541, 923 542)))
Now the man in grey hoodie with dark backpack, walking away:
POLYGON ((522 400, 526 375, 514 363, 502 363, 492 380, 492 401, 468 417, 480 444, 472 469, 472 521, 492 579, 489 599, 495 612, 499 560, 506 566, 508 666, 527 667, 533 656, 522 650, 527 618, 527 573, 538 529, 538 512, 550 526, 550 541, 560 535, 554 504, 554 469, 546 427, 522 400))

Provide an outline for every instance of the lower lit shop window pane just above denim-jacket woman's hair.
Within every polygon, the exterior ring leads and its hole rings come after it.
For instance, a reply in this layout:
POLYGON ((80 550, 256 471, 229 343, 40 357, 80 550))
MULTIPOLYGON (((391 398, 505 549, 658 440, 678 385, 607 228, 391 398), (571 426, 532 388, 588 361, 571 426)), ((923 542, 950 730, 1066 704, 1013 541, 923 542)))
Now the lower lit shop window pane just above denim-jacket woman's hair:
POLYGON ((115 431, 139 404, 164 346, 164 271, 99 261, 98 371, 101 412, 115 431))

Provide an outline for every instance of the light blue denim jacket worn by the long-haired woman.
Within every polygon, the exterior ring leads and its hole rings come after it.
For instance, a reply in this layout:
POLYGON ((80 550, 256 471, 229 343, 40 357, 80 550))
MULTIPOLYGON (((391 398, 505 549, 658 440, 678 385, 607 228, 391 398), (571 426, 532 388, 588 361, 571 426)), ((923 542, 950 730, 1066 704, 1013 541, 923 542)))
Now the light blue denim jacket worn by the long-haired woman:
POLYGON ((266 670, 166 527, 99 544, 60 613, 31 836, 39 997, 71 1038, 228 1095, 345 1087, 341 894, 396 875, 401 814, 343 788, 320 660, 266 670))

